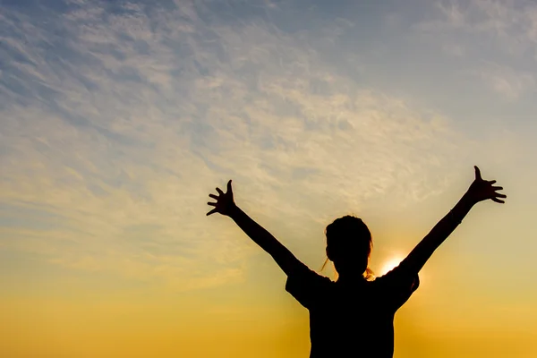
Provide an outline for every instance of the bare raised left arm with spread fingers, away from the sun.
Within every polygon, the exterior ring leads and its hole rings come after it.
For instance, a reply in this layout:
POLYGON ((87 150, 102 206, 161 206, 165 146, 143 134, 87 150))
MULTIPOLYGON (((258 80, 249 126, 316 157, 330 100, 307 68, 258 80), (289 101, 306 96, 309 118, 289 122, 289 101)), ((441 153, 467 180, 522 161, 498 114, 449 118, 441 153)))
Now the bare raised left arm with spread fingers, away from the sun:
POLYGON ((265 228, 256 223, 242 209, 236 206, 233 199, 233 190, 231 180, 227 182, 227 192, 222 192, 217 188, 219 196, 209 194, 209 197, 217 202, 208 202, 208 205, 215 207, 207 215, 215 212, 231 217, 245 234, 247 234, 254 243, 260 245, 261 249, 267 251, 276 261, 278 266, 290 276, 299 270, 307 268, 300 260, 296 259, 286 246, 278 242, 276 237, 270 234, 265 228))

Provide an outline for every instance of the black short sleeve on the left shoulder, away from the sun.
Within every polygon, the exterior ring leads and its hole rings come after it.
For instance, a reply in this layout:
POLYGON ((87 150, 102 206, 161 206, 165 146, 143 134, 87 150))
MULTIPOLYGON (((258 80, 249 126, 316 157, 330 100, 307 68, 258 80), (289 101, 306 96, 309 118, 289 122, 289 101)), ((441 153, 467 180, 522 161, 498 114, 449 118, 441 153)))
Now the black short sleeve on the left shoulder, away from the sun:
POLYGON ((286 291, 305 308, 311 309, 322 303, 332 281, 320 276, 305 265, 287 277, 286 291))

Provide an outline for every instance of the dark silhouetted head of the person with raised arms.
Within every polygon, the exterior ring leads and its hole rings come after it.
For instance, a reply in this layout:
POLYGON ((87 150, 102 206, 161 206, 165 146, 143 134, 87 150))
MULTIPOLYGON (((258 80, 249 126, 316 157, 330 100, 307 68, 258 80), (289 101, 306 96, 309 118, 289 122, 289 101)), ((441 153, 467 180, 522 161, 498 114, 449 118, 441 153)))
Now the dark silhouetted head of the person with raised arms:
POLYGON ((368 268, 372 240, 369 228, 359 217, 339 217, 325 230, 328 260, 341 275, 371 276, 368 268))

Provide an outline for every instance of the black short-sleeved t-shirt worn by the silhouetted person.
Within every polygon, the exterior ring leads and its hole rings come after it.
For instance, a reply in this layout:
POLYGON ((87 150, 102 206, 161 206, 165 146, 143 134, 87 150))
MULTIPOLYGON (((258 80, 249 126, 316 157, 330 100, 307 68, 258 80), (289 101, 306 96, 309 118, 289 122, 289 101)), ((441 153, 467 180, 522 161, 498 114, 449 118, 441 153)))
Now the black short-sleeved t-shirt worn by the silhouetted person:
POLYGON ((286 291, 310 311, 310 358, 392 358, 394 316, 418 288, 402 265, 373 281, 334 282, 305 265, 286 291))

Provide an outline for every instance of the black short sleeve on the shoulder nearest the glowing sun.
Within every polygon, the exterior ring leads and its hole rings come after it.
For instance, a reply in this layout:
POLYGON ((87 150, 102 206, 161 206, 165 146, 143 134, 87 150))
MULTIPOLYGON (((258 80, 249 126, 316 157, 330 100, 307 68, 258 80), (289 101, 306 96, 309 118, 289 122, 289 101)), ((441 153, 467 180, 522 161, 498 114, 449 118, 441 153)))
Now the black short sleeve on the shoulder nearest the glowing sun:
POLYGON ((384 296, 383 301, 394 311, 405 304, 420 286, 418 274, 403 265, 393 268, 386 275, 378 277, 375 281, 378 281, 381 287, 384 296))

